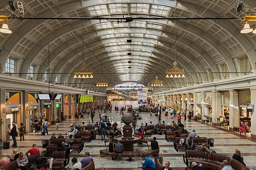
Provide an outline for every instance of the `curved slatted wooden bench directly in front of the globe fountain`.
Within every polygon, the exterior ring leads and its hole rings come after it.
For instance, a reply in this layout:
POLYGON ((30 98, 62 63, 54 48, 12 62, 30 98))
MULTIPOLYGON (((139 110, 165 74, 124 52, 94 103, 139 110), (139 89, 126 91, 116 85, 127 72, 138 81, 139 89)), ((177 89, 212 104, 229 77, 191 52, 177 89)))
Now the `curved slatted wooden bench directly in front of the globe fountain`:
POLYGON ((114 158, 128 158, 131 160, 132 158, 140 158, 142 154, 145 154, 146 156, 153 156, 153 155, 158 155, 159 154, 159 149, 147 149, 147 150, 138 150, 138 151, 122 151, 121 153, 116 153, 116 152, 110 152, 108 148, 102 149, 99 151, 100 156, 104 157, 111 157, 112 159, 114 158))

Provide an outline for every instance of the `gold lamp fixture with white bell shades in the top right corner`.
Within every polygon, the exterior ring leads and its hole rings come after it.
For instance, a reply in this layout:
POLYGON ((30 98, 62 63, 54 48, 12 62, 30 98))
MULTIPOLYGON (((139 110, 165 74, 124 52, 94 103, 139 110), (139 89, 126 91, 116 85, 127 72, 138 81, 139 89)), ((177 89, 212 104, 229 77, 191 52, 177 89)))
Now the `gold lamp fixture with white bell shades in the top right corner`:
POLYGON ((256 21, 256 11, 249 11, 249 9, 256 9, 249 6, 244 7, 245 16, 242 25, 244 25, 244 28, 240 31, 242 34, 247 34, 250 32, 253 32, 253 34, 256 34, 256 28, 253 30, 253 28, 250 27, 249 21, 256 21), (253 14, 254 13, 254 14, 253 14))

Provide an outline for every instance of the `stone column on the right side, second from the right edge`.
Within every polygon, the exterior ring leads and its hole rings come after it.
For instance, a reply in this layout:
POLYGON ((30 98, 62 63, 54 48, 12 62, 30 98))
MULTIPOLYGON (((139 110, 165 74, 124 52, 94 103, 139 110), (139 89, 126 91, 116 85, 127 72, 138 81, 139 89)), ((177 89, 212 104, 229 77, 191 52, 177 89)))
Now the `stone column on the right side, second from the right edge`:
POLYGON ((234 131, 234 127, 239 127, 240 125, 240 115, 239 115, 239 103, 238 103, 238 91, 230 91, 230 130, 234 131))

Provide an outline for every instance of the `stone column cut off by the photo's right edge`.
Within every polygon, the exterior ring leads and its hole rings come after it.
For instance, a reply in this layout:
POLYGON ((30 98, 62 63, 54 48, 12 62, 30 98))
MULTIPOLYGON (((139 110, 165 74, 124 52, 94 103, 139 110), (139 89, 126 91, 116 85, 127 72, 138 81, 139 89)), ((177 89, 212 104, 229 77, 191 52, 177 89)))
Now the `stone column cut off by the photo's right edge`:
MULTIPOLYGON (((251 91, 251 105, 254 105, 256 111, 256 87, 250 88, 251 91)), ((231 113, 231 112, 230 112, 231 113)), ((251 114, 251 138, 256 139, 256 113, 251 114)))

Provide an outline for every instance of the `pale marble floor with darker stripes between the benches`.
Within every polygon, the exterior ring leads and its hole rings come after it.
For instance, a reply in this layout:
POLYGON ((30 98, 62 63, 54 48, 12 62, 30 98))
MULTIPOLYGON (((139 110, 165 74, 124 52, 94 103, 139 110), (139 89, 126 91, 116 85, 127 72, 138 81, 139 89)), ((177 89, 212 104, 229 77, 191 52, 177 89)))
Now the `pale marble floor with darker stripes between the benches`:
MULTIPOLYGON (((121 127, 123 126, 120 122, 121 117, 119 116, 119 113, 108 114, 108 116, 111 116, 111 119, 114 122, 117 122, 121 127)), ((149 123, 150 121, 152 121, 154 125, 158 123, 158 117, 153 115, 151 117, 149 113, 142 113, 141 117, 142 119, 138 120, 137 125, 140 125, 141 122, 143 122, 145 125, 145 122, 149 123)), ((172 120, 177 122, 176 119, 171 119, 170 116, 162 116, 161 122, 163 120, 166 124, 168 122, 172 122, 172 120)), ((91 121, 91 119, 87 116, 84 116, 85 124, 87 124, 89 121, 91 121)), ((96 121, 99 121, 97 114, 94 118, 94 122, 96 121)), ((244 157, 244 162, 246 163, 246 165, 256 167, 256 140, 250 139, 250 137, 248 136, 240 136, 238 133, 235 132, 220 129, 219 127, 202 124, 201 122, 187 121, 184 122, 183 118, 181 122, 183 123, 183 125, 185 125, 185 128, 188 131, 192 131, 192 129, 195 129, 195 132, 199 136, 206 136, 207 138, 215 139, 214 147, 211 147, 211 150, 215 150, 217 153, 222 153, 225 155, 233 155, 235 153, 235 150, 239 149, 241 150, 241 155, 244 157)), ((58 130, 55 130, 55 125, 51 125, 48 128, 49 134, 52 134, 53 132, 55 132, 56 134, 58 134, 59 132, 65 133, 67 129, 69 129, 69 125, 73 123, 75 123, 75 119, 68 119, 67 121, 63 121, 59 123, 58 130)), ((81 124, 81 120, 79 120, 79 124, 81 124)), ((159 156, 163 157, 164 161, 170 161, 170 167, 172 167, 173 170, 183 170, 184 167, 186 167, 186 165, 183 163, 183 154, 185 153, 185 150, 179 150, 179 152, 176 152, 173 147, 173 143, 167 142, 164 135, 151 135, 150 137, 148 137, 148 139, 152 139, 154 136, 157 137, 157 141, 159 143, 159 156)), ((32 147, 32 144, 37 144, 38 149, 40 149, 40 151, 43 151, 45 149, 42 148, 41 140, 49 138, 50 135, 41 136, 40 132, 26 134, 25 142, 19 142, 19 137, 17 138, 17 149, 19 152, 26 153, 26 151, 32 147)), ((10 143, 10 145, 12 145, 12 142, 10 143)), ((96 136, 96 140, 93 140, 90 143, 86 142, 85 145, 86 147, 80 153, 78 153, 77 151, 72 151, 70 158, 76 156, 78 157, 78 160, 81 160, 84 156, 84 152, 88 151, 90 152, 90 156, 92 156, 94 159, 95 167, 105 167, 107 170, 138 170, 138 168, 136 168, 137 165, 140 165, 143 162, 139 158, 134 159, 133 161, 126 161, 126 159, 112 160, 111 158, 106 157, 101 158, 99 150, 106 147, 104 141, 101 141, 99 135, 96 136)), ((1 143, 1 153, 4 152, 7 155, 12 155, 12 147, 10 147, 10 149, 3 150, 2 146, 3 142, 1 143)), ((134 144, 134 149, 143 150, 147 148, 148 147, 145 144, 134 144)), ((72 167, 71 163, 68 164, 67 167, 72 167)))

